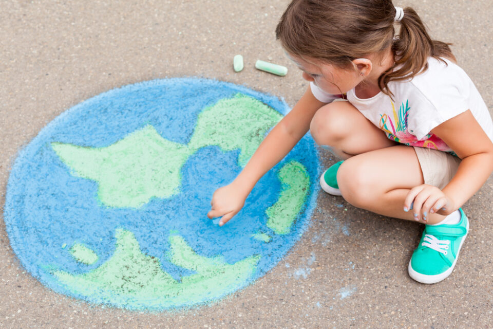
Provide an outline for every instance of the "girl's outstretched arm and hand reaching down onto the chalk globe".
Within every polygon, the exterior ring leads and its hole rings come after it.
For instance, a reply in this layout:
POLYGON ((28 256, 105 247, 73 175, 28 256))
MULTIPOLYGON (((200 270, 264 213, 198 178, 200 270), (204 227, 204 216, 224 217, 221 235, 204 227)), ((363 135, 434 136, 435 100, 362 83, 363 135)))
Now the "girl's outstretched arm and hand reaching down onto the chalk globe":
POLYGON ((310 87, 308 87, 291 111, 276 124, 260 143, 258 149, 235 180, 214 192, 211 211, 207 213, 207 217, 222 216, 219 222, 219 226, 222 226, 236 215, 243 207, 245 199, 257 181, 305 136, 310 129, 313 116, 324 104, 313 96, 310 87))

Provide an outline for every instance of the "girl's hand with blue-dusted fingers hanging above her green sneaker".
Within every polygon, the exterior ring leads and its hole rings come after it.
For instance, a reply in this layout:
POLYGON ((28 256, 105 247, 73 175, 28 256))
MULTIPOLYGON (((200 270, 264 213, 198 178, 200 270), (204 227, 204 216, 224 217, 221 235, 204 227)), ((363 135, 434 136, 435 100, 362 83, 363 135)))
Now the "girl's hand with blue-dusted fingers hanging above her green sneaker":
POLYGON ((419 185, 412 188, 404 200, 404 211, 412 210, 414 219, 427 221, 428 214, 448 215, 454 210, 452 200, 442 190, 432 185, 419 185))

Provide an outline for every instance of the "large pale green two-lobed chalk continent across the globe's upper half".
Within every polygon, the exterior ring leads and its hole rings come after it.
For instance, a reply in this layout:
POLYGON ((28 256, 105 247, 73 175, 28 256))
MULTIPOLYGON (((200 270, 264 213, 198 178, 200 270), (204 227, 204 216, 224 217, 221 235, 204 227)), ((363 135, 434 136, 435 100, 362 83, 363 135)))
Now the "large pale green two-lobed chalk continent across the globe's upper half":
POLYGON ((244 167, 264 134, 282 115, 241 94, 202 111, 188 145, 166 140, 151 125, 104 148, 59 142, 51 146, 72 174, 98 182, 98 198, 110 207, 140 208, 153 197, 178 194, 180 171, 189 156, 207 145, 240 149, 244 167))

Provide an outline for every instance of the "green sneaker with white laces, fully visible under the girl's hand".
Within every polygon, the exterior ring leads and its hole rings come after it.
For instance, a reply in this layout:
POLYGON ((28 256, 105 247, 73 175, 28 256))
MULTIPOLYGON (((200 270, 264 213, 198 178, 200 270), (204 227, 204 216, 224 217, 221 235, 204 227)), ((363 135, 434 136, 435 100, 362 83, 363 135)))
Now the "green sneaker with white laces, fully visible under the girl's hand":
POLYGON ((437 283, 450 275, 469 231, 469 220, 461 211, 456 225, 426 225, 420 244, 409 261, 409 275, 421 283, 437 283))

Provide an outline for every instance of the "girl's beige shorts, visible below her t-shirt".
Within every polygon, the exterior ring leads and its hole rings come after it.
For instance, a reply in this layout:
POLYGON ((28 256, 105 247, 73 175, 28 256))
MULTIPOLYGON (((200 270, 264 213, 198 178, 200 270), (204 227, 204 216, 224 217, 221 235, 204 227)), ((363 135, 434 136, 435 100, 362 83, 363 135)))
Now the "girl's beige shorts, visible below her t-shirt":
POLYGON ((413 147, 420 161, 425 184, 443 189, 456 174, 461 159, 449 153, 413 147))

